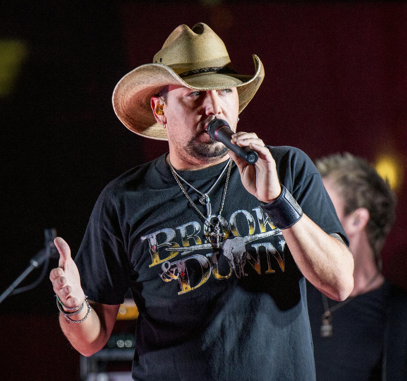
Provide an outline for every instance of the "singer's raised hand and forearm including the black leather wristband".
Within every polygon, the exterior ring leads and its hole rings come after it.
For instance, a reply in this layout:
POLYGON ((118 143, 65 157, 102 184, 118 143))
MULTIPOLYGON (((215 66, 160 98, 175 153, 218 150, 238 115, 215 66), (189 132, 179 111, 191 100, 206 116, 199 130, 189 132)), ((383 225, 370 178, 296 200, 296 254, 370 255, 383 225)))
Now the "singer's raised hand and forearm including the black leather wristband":
MULTIPOLYGON (((255 164, 248 164, 232 151, 229 156, 239 168, 247 192, 263 203, 260 207, 281 229, 304 276, 332 299, 346 299, 353 289, 353 258, 346 245, 302 214, 294 196, 280 184, 277 165, 269 148, 256 134, 236 132, 232 135, 232 143, 249 146, 257 152, 259 159, 255 164)), ((309 192, 318 189, 315 186, 309 192)), ((321 213, 324 213, 323 209, 321 213)))

